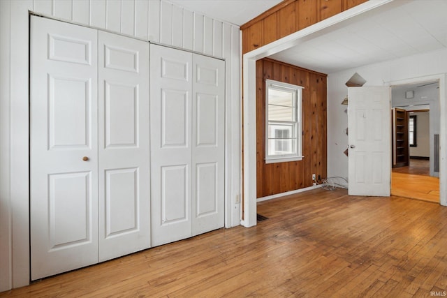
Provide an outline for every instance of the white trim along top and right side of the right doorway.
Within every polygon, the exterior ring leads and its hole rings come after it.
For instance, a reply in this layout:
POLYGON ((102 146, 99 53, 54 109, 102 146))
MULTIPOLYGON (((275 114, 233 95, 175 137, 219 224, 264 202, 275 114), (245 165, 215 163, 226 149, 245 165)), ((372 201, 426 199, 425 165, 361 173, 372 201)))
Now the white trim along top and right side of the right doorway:
POLYGON ((440 128, 439 128, 439 147, 441 147, 441 150, 439 150, 439 204, 441 204, 442 206, 447 206, 447 198, 446 198, 447 175, 445 172, 447 169, 446 75, 444 73, 441 73, 438 75, 426 75, 423 77, 413 77, 413 78, 404 79, 404 80, 391 81, 391 82, 389 82, 389 84, 390 84, 390 87, 393 87, 393 86, 397 86, 397 85, 417 84, 419 82, 427 82, 427 81, 434 81, 434 80, 439 81, 439 109, 440 109, 439 117, 441 117, 440 128))

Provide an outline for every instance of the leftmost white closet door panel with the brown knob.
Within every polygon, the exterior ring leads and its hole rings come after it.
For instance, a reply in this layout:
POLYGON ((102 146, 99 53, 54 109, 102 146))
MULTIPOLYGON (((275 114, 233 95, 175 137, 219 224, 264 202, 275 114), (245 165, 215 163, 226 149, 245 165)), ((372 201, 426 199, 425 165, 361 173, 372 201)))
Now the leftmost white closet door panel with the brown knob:
POLYGON ((98 262, 96 57, 96 30, 31 17, 32 280, 98 262))

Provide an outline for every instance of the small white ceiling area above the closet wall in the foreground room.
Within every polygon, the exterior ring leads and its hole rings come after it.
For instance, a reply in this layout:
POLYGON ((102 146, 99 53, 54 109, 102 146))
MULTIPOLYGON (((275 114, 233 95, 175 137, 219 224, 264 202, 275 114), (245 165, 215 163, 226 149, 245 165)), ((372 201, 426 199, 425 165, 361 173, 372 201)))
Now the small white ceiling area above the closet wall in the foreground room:
POLYGON ((170 0, 196 13, 241 26, 282 0, 170 0))

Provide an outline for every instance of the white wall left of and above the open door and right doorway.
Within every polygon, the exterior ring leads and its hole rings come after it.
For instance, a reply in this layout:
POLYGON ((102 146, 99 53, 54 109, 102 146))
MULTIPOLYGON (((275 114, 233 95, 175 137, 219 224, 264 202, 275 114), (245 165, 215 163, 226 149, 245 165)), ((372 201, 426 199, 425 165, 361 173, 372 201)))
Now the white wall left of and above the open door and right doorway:
MULTIPOLYGON (((409 83, 407 81, 413 78, 416 81, 424 81, 427 77, 435 75, 445 80, 446 57, 447 50, 439 50, 328 75, 328 177, 348 177, 348 158, 343 154, 348 144, 348 136, 344 131, 348 126, 348 118, 344 112, 346 105, 341 105, 341 103, 347 94, 345 83, 349 78, 354 73, 358 73, 367 81, 365 86, 397 84, 399 81, 409 83)), ((444 89, 444 94, 440 94, 440 100, 446 98, 445 92, 444 89)), ((441 103, 438 110, 441 110, 443 106, 445 103, 441 103)), ((445 121, 441 119, 441 131, 443 125, 445 126, 445 121)), ((442 144, 441 148, 443 148, 442 144)), ((441 170, 444 162, 441 160, 441 170)))

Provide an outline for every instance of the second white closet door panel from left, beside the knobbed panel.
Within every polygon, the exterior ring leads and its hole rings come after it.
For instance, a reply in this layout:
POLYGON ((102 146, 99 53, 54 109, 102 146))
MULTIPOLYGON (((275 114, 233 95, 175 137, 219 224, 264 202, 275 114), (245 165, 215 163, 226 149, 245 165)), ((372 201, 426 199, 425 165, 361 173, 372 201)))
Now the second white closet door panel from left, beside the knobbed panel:
POLYGON ((99 260, 150 246, 149 43, 98 32, 99 260))

